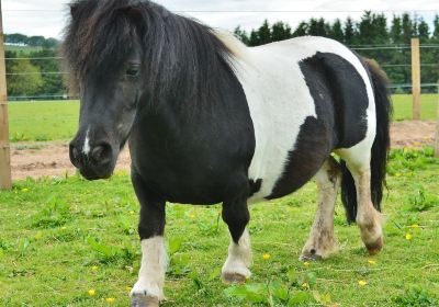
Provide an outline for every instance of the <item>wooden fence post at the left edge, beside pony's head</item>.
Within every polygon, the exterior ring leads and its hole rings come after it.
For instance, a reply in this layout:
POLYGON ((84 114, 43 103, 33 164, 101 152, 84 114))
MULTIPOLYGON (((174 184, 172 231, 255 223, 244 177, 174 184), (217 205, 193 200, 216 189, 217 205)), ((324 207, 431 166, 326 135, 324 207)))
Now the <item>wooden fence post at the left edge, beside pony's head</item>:
POLYGON ((7 67, 3 39, 3 22, 0 0, 0 190, 10 190, 12 187, 12 180, 9 148, 7 67))

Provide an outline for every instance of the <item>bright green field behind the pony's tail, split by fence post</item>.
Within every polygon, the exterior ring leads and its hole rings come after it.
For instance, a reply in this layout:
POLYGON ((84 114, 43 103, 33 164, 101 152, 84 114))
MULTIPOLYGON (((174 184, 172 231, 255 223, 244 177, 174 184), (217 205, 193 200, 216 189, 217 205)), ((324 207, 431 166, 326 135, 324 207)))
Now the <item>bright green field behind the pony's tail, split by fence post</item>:
MULTIPOLYGON (((394 105, 393 120, 395 122, 412 120, 412 95, 396 94, 392 96, 394 105)), ((421 113, 423 121, 435 121, 437 118, 437 105, 439 101, 438 94, 421 95, 421 113)))

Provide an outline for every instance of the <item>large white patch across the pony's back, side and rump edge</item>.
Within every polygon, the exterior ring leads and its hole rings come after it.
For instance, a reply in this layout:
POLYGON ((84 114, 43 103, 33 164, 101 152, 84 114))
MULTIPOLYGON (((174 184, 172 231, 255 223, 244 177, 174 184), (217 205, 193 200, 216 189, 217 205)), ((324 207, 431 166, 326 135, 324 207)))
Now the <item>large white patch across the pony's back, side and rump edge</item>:
POLYGON ((269 196, 296 147, 306 117, 317 117, 314 99, 300 62, 316 53, 333 53, 349 61, 364 80, 369 107, 364 118, 368 130, 354 155, 369 162, 375 137, 375 102, 369 75, 360 59, 342 44, 324 37, 305 36, 247 48, 232 35, 217 35, 234 53, 233 67, 243 86, 255 127, 256 148, 249 179, 262 179, 262 185, 249 202, 269 196), (224 38, 226 37, 226 38, 224 38))

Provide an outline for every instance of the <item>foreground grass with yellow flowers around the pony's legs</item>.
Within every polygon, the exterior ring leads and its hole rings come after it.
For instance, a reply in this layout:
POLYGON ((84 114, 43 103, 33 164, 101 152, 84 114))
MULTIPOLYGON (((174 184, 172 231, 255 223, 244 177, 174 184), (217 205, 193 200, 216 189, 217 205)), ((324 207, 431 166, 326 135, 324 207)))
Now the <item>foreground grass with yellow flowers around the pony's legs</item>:
MULTIPOLYGON (((168 204, 172 255, 162 306, 286 306, 285 299, 291 306, 438 306, 439 160, 431 156, 431 148, 393 151, 385 248, 376 257, 367 254, 358 228, 346 225, 338 202, 340 251, 309 265, 297 260, 317 203, 313 182, 251 206, 254 275, 245 288, 219 281, 228 246, 221 207, 168 204)), ((108 297, 127 306, 140 260, 137 213, 126 174, 15 182, 0 193, 0 306, 108 306, 108 297), (88 295, 92 288, 95 296, 88 295)))

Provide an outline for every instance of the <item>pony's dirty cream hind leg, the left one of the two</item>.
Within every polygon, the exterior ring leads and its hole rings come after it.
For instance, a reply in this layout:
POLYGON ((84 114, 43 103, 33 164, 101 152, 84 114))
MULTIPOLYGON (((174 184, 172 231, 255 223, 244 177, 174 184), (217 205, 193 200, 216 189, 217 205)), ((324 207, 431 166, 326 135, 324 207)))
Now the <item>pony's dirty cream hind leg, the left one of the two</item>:
POLYGON ((334 207, 340 185, 338 162, 329 157, 315 175, 319 191, 317 215, 309 238, 302 250, 301 260, 319 260, 328 258, 337 250, 334 236, 334 207))

